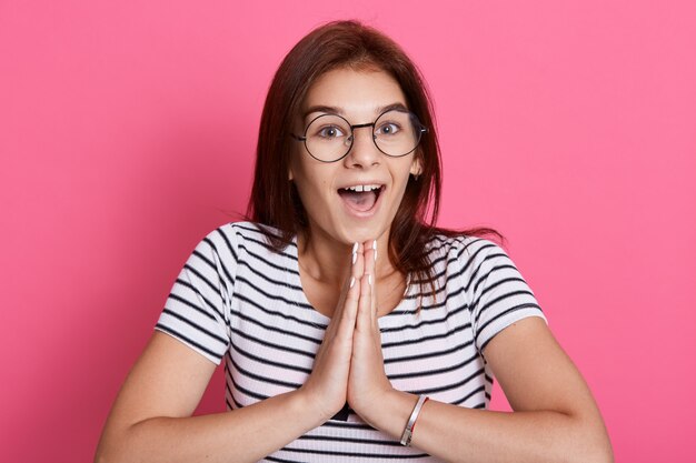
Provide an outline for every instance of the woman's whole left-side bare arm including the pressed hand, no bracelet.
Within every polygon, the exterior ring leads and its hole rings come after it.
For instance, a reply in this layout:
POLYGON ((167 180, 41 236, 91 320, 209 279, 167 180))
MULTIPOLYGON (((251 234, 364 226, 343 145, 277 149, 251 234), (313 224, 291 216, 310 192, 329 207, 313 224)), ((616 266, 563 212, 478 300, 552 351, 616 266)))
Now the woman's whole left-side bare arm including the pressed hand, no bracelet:
POLYGON ((361 261, 356 264, 352 259, 302 386, 239 410, 191 416, 216 365, 170 335, 155 332, 119 392, 95 460, 253 462, 322 424, 346 403, 360 294, 350 280, 361 274, 361 261))

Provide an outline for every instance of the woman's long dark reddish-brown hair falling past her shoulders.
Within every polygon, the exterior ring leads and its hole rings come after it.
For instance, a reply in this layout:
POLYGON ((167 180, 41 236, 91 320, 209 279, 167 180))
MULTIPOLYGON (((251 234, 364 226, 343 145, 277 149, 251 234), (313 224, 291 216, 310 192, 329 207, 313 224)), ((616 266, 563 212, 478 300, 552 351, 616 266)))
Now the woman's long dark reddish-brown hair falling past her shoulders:
POLYGON ((288 180, 292 145, 290 132, 309 88, 324 73, 337 68, 378 69, 401 87, 406 102, 429 129, 416 155, 421 172, 410 177, 389 234, 389 260, 411 281, 435 292, 435 275, 427 243, 435 234, 483 235, 488 228, 447 230, 435 227, 441 188, 440 153, 432 107, 425 81, 401 48, 381 32, 357 21, 336 21, 302 38, 286 56, 271 82, 259 130, 253 187, 247 210, 249 220, 269 225, 269 242, 280 251, 298 231, 309 233, 305 208, 295 184, 288 180))

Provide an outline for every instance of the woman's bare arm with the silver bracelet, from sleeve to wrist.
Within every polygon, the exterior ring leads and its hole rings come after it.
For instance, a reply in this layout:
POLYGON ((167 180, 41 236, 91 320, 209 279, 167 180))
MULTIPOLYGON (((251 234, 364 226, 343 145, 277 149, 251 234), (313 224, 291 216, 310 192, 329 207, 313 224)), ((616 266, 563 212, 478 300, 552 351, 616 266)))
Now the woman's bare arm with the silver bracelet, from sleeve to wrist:
MULTIPOLYGON (((515 412, 428 401, 411 445, 450 462, 613 462, 591 393, 541 319, 503 330, 485 354, 515 412)), ((362 417, 400 439, 416 401, 390 390, 362 417)))

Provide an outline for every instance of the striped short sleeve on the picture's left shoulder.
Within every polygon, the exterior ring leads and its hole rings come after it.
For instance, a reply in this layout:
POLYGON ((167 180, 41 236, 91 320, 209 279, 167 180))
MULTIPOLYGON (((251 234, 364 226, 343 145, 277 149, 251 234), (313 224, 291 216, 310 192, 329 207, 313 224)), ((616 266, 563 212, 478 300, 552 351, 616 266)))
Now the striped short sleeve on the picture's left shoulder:
POLYGON ((223 228, 208 234, 186 261, 155 326, 216 364, 230 344, 236 255, 223 228))

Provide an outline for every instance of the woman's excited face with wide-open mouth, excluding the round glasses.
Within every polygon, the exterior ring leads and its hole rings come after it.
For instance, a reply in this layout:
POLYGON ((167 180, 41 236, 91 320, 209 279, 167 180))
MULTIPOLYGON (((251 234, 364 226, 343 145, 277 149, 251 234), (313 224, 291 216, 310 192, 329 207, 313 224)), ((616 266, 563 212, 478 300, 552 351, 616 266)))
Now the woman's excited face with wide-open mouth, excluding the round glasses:
MULTIPOLYGON (((311 85, 294 130, 302 134, 309 122, 321 114, 339 114, 351 125, 371 123, 394 105, 407 108, 401 88, 388 73, 337 69, 311 85)), ((332 135, 332 129, 324 130, 332 135)), ((417 174, 420 169, 415 152, 391 158, 379 151, 370 127, 356 128, 354 134, 350 152, 336 162, 316 160, 305 143, 298 142, 289 172, 307 211, 312 236, 346 244, 388 236, 409 173, 417 174)))

